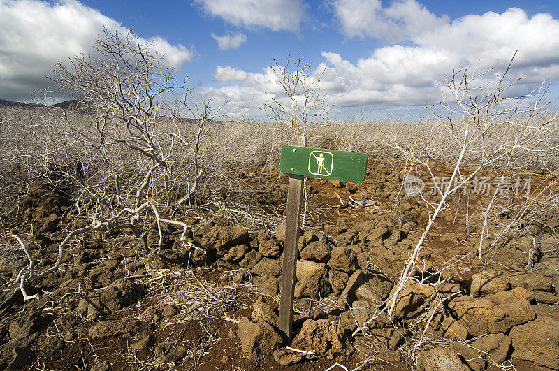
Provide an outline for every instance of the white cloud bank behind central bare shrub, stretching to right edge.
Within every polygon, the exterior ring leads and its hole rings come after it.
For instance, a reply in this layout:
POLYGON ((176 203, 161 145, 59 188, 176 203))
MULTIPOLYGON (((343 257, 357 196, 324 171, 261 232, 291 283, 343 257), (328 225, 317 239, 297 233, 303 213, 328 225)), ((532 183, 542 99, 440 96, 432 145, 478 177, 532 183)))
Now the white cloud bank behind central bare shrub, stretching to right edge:
MULTIPOLYGON (((324 71, 321 87, 331 95, 328 101, 349 110, 437 103, 444 75, 450 77, 454 68, 469 66, 478 73, 493 68, 479 82, 495 82, 516 50, 509 82, 522 78, 511 94, 530 92, 543 80, 559 80, 559 20, 549 14, 529 17, 521 9, 510 8, 501 14, 467 15, 409 38, 412 45, 378 48, 356 62, 337 52, 322 52, 323 60, 312 73, 316 76, 324 71)), ((281 96, 271 68, 246 75, 228 68, 231 71, 217 69, 215 76, 223 77, 216 80, 225 86, 216 89, 219 94, 235 94, 239 107, 242 97, 246 104, 266 99, 266 94, 258 92, 281 96)))

